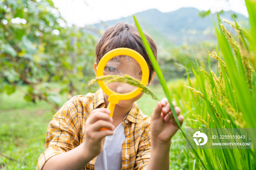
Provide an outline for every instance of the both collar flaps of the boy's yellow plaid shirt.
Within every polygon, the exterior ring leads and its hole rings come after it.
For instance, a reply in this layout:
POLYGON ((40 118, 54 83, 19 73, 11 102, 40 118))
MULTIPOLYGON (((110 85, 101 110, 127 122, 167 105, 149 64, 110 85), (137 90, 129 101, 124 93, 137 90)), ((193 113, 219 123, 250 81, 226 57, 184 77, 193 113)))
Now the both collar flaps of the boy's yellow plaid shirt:
MULTIPOLYGON (((104 99, 104 92, 100 88, 97 90, 97 92, 94 94, 94 103, 93 108, 103 108, 105 107, 105 99, 104 99)), ((137 102, 135 101, 132 104, 131 110, 128 112, 126 119, 131 121, 132 123, 138 123, 139 121, 139 115, 140 115, 140 109, 137 105, 137 102)))

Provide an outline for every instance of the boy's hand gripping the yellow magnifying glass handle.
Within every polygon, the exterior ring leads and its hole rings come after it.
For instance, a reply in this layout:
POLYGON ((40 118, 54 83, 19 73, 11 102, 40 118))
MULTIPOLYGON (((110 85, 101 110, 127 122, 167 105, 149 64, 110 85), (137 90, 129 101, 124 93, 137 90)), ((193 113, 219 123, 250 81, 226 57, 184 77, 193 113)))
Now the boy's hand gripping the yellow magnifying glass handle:
POLYGON ((94 109, 86 120, 83 146, 85 154, 91 159, 101 153, 105 136, 114 133, 113 119, 109 114, 110 111, 106 108, 94 109), (100 131, 103 127, 109 130, 100 131))

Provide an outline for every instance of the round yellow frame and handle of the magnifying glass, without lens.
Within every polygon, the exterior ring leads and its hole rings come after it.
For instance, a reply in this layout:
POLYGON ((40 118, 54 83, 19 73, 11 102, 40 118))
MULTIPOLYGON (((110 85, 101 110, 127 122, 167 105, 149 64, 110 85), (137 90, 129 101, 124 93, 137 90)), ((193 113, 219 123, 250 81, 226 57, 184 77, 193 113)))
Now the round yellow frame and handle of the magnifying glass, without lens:
MULTIPOLYGON (((103 70, 104 70, 106 64, 108 63, 108 61, 118 55, 128 55, 128 56, 134 58, 139 63, 139 65, 142 69, 141 83, 144 85, 147 85, 148 77, 149 77, 149 70, 148 70, 147 62, 142 57, 142 55, 140 55, 137 51, 128 49, 128 48, 117 48, 117 49, 111 50, 108 53, 106 53, 98 63, 96 76, 97 77, 103 76, 103 70)), ((108 109, 111 111, 110 117, 113 116, 114 108, 115 108, 116 104, 118 104, 119 100, 132 99, 132 98, 138 96, 142 92, 141 91, 142 89, 137 87, 132 92, 120 94, 120 93, 116 93, 116 92, 113 92, 112 90, 110 90, 108 88, 108 86, 106 86, 104 81, 99 80, 98 84, 102 88, 102 90, 106 93, 106 95, 109 96, 108 109)))

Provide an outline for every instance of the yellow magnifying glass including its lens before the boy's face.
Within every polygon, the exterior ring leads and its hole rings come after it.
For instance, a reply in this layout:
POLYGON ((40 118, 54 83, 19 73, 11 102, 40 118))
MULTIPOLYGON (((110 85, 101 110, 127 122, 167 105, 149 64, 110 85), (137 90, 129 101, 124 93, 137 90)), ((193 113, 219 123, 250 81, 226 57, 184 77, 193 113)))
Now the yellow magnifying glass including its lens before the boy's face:
MULTIPOLYGON (((147 85, 149 70, 145 59, 137 51, 128 48, 117 48, 106 53, 98 63, 96 76, 103 75, 120 75, 128 74, 147 85)), ((114 108, 120 100, 130 100, 138 96, 142 91, 141 88, 128 85, 122 82, 112 82, 106 84, 104 81, 98 81, 99 86, 108 96, 108 107, 111 111, 110 117, 113 116, 114 108)), ((102 128, 105 130, 107 128, 102 128)))

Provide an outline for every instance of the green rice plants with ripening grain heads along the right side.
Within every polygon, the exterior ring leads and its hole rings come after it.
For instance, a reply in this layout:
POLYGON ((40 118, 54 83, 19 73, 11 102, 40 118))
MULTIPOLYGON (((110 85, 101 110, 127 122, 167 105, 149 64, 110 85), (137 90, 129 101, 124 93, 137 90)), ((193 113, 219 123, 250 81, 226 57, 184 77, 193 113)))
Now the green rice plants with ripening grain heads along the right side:
MULTIPOLYGON (((187 88, 203 99, 205 107, 202 109, 206 111, 196 109, 193 112, 195 114, 192 114, 194 118, 188 120, 191 127, 197 128, 198 126, 201 128, 246 128, 250 141, 255 142, 256 135, 254 135, 253 128, 256 127, 254 118, 256 111, 256 2, 245 0, 245 3, 251 30, 242 28, 235 19, 234 22, 224 20, 238 32, 238 41, 236 41, 222 25, 217 13, 218 27, 215 26, 215 30, 222 55, 218 48, 216 51, 207 51, 209 72, 200 67, 197 62, 197 68, 189 68, 194 73, 199 87, 192 87, 189 74, 187 74, 189 84, 187 88), (211 70, 209 57, 218 61, 218 74, 211 70)), ((136 20, 135 23, 138 28, 136 20)), ((144 46, 147 49, 146 43, 144 46)), ((150 56, 150 51, 148 55, 150 56)), ((154 65, 157 63, 153 63, 154 65)), ((165 90, 164 79, 159 79, 165 90)), ((168 92, 165 91, 165 93, 168 92)), ((191 106, 188 106, 190 108, 197 106, 197 101, 193 94, 192 96, 194 101, 191 106)), ((189 125, 185 126, 189 128, 189 125)), ((253 143, 253 146, 255 145, 256 143, 253 143)), ((191 154, 195 154, 193 169, 256 169, 255 149, 192 149, 191 154)))

